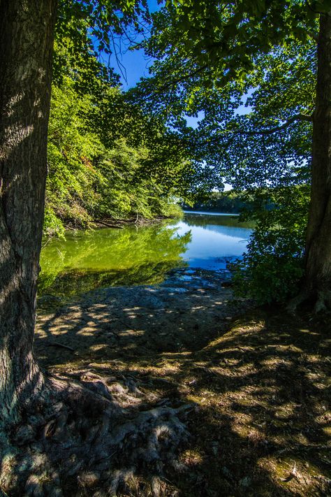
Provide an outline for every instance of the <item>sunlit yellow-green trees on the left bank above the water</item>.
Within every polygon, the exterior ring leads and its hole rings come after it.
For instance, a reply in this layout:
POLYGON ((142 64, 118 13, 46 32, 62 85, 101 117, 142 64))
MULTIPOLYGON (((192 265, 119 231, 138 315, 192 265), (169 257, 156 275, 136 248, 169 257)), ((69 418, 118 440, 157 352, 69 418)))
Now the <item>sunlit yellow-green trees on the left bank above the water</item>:
POLYGON ((126 103, 98 64, 89 69, 89 85, 74 66, 52 88, 47 235, 105 217, 178 215, 177 200, 190 196, 194 171, 175 134, 126 103))

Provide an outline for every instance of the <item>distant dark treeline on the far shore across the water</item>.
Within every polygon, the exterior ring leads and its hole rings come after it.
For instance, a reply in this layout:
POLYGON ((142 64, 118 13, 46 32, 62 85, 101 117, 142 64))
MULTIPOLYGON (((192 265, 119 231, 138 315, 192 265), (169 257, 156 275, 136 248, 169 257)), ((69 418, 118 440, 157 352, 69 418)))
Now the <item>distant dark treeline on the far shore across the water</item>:
MULTIPOLYGON (((256 198, 247 192, 212 192, 207 199, 197 201, 193 206, 183 205, 185 210, 206 210, 210 212, 235 213, 243 210, 253 210, 256 198)), ((266 202, 265 208, 269 210, 274 204, 266 202)))

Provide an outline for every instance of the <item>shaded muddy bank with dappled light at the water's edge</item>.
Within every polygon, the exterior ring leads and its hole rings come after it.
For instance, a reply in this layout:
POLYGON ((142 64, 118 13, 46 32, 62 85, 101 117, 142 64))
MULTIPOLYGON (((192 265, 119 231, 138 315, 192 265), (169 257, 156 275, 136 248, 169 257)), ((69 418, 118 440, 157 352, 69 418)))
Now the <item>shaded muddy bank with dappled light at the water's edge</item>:
POLYGON ((74 351, 82 366, 92 359, 127 361, 199 350, 250 306, 223 287, 228 278, 226 272, 183 268, 170 271, 161 284, 103 288, 53 312, 44 307, 38 317, 38 355, 45 365, 60 366, 73 359, 74 351), (58 343, 51 358, 50 341, 58 343))

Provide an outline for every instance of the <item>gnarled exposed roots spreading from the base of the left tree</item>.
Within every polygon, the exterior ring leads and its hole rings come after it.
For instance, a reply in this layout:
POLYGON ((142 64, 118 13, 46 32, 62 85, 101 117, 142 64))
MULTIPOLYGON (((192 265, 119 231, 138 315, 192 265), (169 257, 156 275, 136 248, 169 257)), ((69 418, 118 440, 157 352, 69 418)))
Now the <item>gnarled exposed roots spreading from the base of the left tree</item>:
POLYGON ((142 410, 146 398, 133 380, 80 377, 82 384, 48 380, 21 424, 2 433, 0 495, 138 496, 148 481, 146 495, 161 495, 164 468, 179 468, 187 436, 179 412, 191 406, 142 410))

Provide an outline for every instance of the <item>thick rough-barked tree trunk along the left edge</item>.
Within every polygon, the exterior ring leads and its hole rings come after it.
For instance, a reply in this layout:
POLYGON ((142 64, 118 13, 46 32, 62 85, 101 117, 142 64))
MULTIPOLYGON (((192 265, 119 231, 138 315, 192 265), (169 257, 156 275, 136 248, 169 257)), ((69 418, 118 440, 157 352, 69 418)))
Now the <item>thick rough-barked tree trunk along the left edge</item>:
POLYGON ((34 359, 55 0, 0 0, 0 423, 43 386, 34 359))

